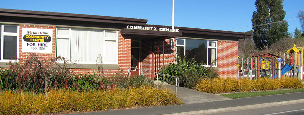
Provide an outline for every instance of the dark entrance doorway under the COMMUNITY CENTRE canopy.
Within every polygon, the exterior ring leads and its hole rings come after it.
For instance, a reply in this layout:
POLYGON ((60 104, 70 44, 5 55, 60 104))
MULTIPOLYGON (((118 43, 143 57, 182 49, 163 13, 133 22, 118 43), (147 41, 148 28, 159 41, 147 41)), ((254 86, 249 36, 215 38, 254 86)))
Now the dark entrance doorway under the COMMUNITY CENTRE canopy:
MULTIPOLYGON (((131 67, 140 68, 140 41, 131 42, 131 67)), ((131 75, 139 75, 140 70, 131 68, 131 75)))

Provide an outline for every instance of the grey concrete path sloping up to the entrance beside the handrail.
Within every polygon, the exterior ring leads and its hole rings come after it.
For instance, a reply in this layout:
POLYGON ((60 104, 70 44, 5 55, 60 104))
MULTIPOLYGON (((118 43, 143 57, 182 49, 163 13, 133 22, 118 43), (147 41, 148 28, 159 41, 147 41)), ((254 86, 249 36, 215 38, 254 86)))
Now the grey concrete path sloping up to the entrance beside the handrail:
MULTIPOLYGON (((156 84, 156 81, 154 82, 156 84)), ((164 82, 159 82, 161 88, 168 88, 175 92, 175 85, 171 85, 164 82)), ((197 90, 187 89, 184 87, 177 87, 177 96, 185 104, 195 104, 195 103, 204 103, 204 102, 213 102, 213 101, 222 101, 222 100, 233 100, 232 98, 223 97, 215 94, 209 94, 205 92, 199 92, 197 90)))

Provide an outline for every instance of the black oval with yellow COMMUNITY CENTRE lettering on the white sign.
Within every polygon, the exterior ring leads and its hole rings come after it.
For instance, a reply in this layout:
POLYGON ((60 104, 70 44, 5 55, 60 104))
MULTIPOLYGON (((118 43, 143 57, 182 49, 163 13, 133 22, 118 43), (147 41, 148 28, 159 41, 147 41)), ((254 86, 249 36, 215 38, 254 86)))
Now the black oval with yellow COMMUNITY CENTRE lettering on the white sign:
POLYGON ((52 38, 49 35, 24 35, 23 40, 29 42, 50 42, 52 38))

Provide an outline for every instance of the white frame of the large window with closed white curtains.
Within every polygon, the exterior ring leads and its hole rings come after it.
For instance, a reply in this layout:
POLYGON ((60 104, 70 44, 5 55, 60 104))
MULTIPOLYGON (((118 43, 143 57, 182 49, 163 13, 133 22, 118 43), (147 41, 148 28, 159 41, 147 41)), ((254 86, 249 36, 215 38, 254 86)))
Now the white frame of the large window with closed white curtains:
MULTIPOLYGON (((55 56, 57 56, 57 38, 67 38, 69 39, 69 60, 71 59, 71 28, 60 28, 60 29, 69 29, 69 35, 57 35, 57 28, 56 28, 56 48, 55 48, 55 56)), ((82 29, 82 28, 80 28, 82 29)), ((85 28, 83 28, 85 29, 85 28)), ((106 40, 110 40, 110 41, 116 41, 116 59, 115 59, 115 62, 106 62, 105 61, 105 58, 102 58, 102 64, 116 64, 118 65, 118 42, 119 42, 119 33, 118 31, 111 31, 111 32, 116 32, 116 37, 115 38, 112 38, 112 37, 105 37, 105 33, 106 31, 109 31, 109 30, 103 30, 103 41, 102 41, 102 44, 103 44, 103 53, 102 53, 102 57, 105 57, 105 41, 106 40)), ((59 63, 63 63, 63 62, 59 62, 59 63)), ((75 63, 78 63, 78 64, 96 64, 97 62, 75 62, 75 63)))

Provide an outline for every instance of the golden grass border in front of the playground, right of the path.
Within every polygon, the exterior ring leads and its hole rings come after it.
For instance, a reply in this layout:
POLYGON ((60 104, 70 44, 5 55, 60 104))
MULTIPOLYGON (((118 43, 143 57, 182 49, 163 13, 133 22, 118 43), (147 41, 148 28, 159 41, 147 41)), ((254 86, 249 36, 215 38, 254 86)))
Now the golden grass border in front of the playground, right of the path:
POLYGON ((195 84, 195 89, 207 93, 229 93, 229 92, 248 92, 277 90, 288 88, 304 88, 302 80, 294 77, 282 77, 280 79, 258 78, 249 80, 247 78, 240 79, 201 79, 195 84))

